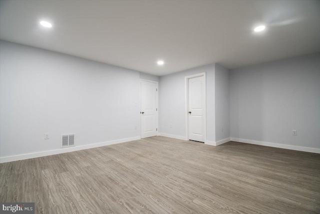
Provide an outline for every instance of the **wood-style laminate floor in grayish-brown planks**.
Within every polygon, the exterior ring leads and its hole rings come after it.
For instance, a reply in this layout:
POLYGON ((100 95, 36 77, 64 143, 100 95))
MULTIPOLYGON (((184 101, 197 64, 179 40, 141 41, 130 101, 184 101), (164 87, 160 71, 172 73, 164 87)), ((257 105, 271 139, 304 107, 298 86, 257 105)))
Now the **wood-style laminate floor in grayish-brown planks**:
POLYGON ((36 213, 319 213, 320 154, 150 137, 0 164, 36 213))

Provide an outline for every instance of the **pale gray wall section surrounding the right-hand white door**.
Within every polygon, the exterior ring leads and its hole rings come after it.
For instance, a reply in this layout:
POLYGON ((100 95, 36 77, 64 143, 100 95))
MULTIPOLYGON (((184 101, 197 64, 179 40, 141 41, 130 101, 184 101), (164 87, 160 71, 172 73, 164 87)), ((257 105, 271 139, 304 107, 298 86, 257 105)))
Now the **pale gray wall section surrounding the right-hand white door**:
POLYGON ((206 73, 206 139, 215 141, 214 64, 160 77, 159 132, 186 137, 185 76, 206 73), (170 128, 172 125, 172 128, 170 128))

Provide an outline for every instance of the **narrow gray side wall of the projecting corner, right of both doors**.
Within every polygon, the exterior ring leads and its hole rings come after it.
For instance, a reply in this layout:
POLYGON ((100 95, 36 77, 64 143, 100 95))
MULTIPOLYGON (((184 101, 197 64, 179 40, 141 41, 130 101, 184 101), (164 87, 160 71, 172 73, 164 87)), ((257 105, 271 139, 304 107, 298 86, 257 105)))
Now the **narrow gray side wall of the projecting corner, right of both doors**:
POLYGON ((229 70, 215 64, 215 141, 230 137, 229 70))

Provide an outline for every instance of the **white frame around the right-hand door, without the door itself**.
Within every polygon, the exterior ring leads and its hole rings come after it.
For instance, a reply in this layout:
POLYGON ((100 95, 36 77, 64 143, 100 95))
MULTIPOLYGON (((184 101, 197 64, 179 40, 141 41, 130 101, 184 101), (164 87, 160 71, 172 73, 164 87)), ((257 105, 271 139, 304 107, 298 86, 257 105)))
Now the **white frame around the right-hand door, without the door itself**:
POLYGON ((184 77, 185 79, 185 133, 186 133, 186 140, 189 140, 189 120, 188 120, 188 109, 189 109, 189 79, 195 77, 202 77, 204 78, 204 111, 203 111, 203 120, 204 120, 204 143, 206 143, 206 78, 205 72, 193 74, 190 76, 184 77))

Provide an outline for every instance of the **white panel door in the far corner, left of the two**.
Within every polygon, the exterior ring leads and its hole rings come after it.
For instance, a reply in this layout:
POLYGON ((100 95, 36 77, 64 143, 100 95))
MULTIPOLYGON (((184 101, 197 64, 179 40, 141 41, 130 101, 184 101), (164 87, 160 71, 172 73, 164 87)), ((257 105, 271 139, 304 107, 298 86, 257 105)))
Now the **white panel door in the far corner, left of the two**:
POLYGON ((141 138, 157 134, 157 83, 141 80, 141 138))

